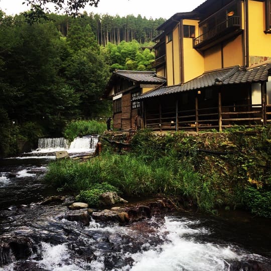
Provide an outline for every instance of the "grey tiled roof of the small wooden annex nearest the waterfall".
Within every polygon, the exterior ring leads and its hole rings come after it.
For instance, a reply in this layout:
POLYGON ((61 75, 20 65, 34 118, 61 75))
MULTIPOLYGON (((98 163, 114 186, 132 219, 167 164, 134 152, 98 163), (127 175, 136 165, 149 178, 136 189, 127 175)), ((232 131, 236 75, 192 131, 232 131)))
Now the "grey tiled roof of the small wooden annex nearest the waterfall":
POLYGON ((113 75, 121 76, 131 81, 141 83, 162 84, 166 82, 164 77, 161 77, 152 71, 115 70, 113 75))

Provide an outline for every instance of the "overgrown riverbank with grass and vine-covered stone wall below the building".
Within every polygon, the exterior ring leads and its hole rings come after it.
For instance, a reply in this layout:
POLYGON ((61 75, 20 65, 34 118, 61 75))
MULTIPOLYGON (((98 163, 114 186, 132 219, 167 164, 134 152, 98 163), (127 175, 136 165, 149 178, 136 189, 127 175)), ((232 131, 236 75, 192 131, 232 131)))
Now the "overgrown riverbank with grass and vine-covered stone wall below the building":
POLYGON ((108 183, 128 196, 170 195, 184 208, 196 205, 213 213, 221 207, 244 208, 271 217, 270 127, 223 133, 106 132, 103 137, 107 140, 100 139, 99 157, 51 164, 47 182, 75 194, 108 183))

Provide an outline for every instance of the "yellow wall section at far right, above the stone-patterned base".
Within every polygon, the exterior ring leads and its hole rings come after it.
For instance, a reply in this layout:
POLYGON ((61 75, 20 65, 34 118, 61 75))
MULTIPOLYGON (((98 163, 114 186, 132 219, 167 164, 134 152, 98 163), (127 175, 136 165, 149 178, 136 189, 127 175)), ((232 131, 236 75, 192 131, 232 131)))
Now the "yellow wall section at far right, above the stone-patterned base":
MULTIPOLYGON (((265 34, 264 3, 248 2, 249 56, 271 57, 271 34, 265 34)), ((250 63, 254 64, 254 63, 250 63)))

